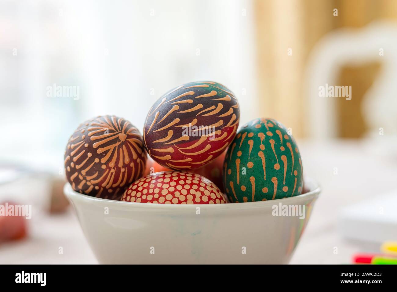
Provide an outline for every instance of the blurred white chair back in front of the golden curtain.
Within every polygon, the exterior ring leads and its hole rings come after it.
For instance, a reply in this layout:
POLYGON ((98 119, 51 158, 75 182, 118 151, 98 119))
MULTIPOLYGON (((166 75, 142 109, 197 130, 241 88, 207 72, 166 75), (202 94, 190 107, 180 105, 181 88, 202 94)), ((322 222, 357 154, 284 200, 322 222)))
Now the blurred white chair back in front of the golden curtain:
MULTIPOLYGON (((313 48, 307 71, 306 86, 308 90, 308 107, 310 119, 307 128, 314 138, 335 138, 338 136, 337 103, 349 103, 358 98, 355 92, 366 84, 356 83, 352 86, 352 100, 343 97, 319 97, 319 86, 341 84, 339 74, 346 65, 362 65, 366 63, 382 63, 382 71, 374 80, 372 86, 364 92, 361 104, 362 117, 369 133, 378 134, 384 128, 389 134, 397 134, 397 106, 395 92, 397 91, 397 25, 395 23, 376 22, 363 29, 337 29, 328 33, 313 48)), ((343 82, 343 81, 342 81, 343 82)), ((372 83, 372 81, 368 81, 372 83)), ((362 91, 362 90, 361 90, 362 91)), ((353 132, 354 125, 348 125, 353 132)), ((360 128, 362 129, 362 127, 360 128)), ((351 133, 357 137, 359 133, 351 133)))

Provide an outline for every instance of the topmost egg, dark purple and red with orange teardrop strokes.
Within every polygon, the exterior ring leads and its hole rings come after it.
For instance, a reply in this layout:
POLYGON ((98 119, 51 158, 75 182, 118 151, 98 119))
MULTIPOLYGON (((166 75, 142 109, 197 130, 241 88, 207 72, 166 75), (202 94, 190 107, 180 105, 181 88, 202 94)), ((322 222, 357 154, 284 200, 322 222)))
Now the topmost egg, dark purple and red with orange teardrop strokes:
POLYGON ((150 108, 143 138, 150 157, 171 169, 197 169, 233 140, 240 110, 220 83, 191 82, 173 88, 150 108))

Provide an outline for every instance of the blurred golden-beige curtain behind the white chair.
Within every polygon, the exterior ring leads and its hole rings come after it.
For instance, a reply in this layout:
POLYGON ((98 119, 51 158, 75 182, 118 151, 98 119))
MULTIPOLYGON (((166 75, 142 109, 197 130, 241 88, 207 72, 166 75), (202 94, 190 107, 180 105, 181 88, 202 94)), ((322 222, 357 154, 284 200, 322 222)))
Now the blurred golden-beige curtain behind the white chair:
MULTIPOLYGON (((291 127, 296 137, 308 135, 303 77, 316 42, 339 27, 359 28, 376 19, 397 20, 395 0, 255 0, 254 8, 260 113, 291 127), (335 8, 337 16, 333 15, 335 8)), ((341 70, 338 82, 358 90, 349 104, 335 100, 337 117, 330 122, 335 123, 339 137, 358 138, 365 133, 360 104, 379 69, 379 64, 368 63, 341 70), (342 127, 346 123, 352 126, 349 131, 342 127)))

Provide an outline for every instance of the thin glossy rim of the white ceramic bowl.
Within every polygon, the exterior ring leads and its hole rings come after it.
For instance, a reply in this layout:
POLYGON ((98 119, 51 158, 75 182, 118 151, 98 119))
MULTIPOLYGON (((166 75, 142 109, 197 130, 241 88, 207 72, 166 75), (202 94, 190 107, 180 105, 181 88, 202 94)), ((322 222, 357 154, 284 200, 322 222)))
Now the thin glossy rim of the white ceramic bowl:
POLYGON ((314 197, 317 197, 321 188, 319 184, 311 178, 305 177, 304 185, 309 188, 309 191, 301 194, 299 196, 293 196, 288 198, 281 198, 276 200, 267 200, 267 201, 258 201, 258 202, 239 202, 239 203, 227 203, 227 204, 146 204, 146 203, 137 203, 137 202, 125 202, 125 201, 116 201, 109 199, 96 198, 93 196, 88 196, 85 194, 81 194, 72 189, 71 185, 67 182, 64 186, 64 194, 71 201, 72 198, 85 201, 86 203, 98 203, 98 204, 106 204, 106 206, 112 207, 134 207, 134 208, 145 208, 145 209, 172 209, 172 208, 196 208, 196 207, 208 207, 214 209, 247 209, 253 207, 272 207, 275 204, 293 204, 294 202, 301 202, 305 199, 312 200, 314 197))

